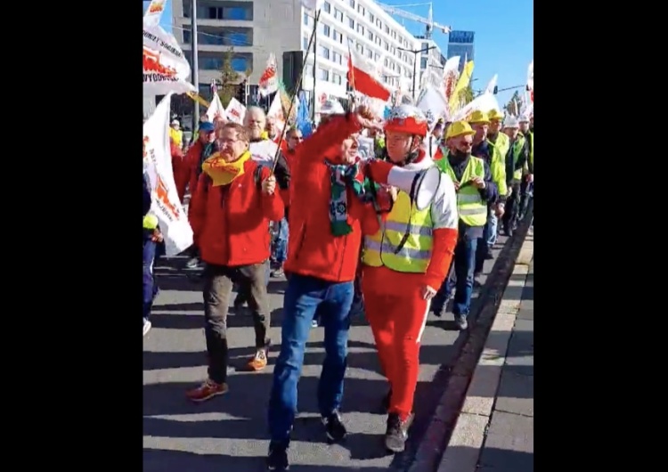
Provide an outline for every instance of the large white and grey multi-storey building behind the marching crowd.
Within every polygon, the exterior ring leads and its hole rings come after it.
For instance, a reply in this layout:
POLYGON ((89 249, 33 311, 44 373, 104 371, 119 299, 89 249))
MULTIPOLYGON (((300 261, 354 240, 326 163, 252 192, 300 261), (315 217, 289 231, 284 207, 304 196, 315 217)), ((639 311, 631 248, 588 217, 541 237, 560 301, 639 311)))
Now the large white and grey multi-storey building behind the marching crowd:
MULTIPOLYGON (((173 0, 174 35, 189 57, 190 11, 191 0, 173 0)), ((200 91, 205 96, 211 80, 220 77, 223 54, 230 47, 232 67, 240 73, 249 70, 250 84, 257 85, 269 54, 275 54, 282 77, 288 67, 283 53, 305 52, 314 25, 314 12, 299 0, 198 0, 197 11, 200 91)), ((315 94, 321 100, 325 95, 346 98, 348 43, 371 60, 382 61, 388 85, 398 86, 401 80, 410 90, 416 54, 409 51, 420 49, 421 41, 373 0, 322 4, 316 54, 304 56, 304 90, 314 90, 315 77, 315 94)))

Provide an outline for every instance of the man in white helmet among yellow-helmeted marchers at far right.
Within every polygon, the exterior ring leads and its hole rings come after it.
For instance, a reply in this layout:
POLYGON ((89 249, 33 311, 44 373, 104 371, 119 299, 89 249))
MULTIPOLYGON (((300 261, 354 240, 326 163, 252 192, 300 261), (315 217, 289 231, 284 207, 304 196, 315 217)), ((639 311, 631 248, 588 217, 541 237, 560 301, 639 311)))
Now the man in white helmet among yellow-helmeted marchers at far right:
POLYGON ((519 220, 520 183, 522 172, 528 159, 526 140, 519 133, 519 121, 509 115, 503 122, 503 133, 508 134, 509 149, 506 153, 506 179, 510 195, 506 199, 506 211, 503 214, 503 232, 512 236, 519 220))

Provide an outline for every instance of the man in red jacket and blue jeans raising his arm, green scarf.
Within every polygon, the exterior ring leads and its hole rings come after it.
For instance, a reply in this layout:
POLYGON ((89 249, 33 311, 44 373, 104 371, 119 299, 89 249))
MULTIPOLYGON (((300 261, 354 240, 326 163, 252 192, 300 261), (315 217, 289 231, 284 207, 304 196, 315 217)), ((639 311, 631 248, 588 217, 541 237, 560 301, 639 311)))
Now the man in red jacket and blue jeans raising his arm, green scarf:
MULTIPOLYGON (((355 154, 342 151, 342 142, 363 127, 377 127, 371 112, 332 117, 297 146, 292 159, 288 287, 283 299, 281 354, 273 370, 269 401, 271 443, 267 468, 288 467, 289 434, 297 410, 297 381, 314 313, 320 306, 325 330, 318 404, 330 441, 346 436, 338 410, 346 373, 350 306, 363 233, 378 231, 371 205, 360 191, 355 154), (339 147, 339 149, 334 146, 339 147), (335 152, 332 152, 335 150, 335 152)), ((348 146, 350 148, 350 146, 348 146)))

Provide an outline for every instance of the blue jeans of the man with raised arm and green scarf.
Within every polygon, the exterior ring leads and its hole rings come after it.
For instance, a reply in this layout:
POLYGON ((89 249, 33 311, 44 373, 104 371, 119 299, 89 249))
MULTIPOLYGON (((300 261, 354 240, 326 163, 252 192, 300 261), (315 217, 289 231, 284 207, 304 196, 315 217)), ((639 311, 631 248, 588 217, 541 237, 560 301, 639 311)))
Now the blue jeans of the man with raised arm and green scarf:
POLYGON ((318 384, 318 408, 323 417, 338 411, 343 398, 347 366, 350 306, 353 282, 335 283, 290 274, 283 299, 281 354, 273 369, 269 397, 269 434, 274 442, 288 443, 297 411, 297 382, 304 363, 306 341, 316 309, 325 330, 325 359, 318 384))

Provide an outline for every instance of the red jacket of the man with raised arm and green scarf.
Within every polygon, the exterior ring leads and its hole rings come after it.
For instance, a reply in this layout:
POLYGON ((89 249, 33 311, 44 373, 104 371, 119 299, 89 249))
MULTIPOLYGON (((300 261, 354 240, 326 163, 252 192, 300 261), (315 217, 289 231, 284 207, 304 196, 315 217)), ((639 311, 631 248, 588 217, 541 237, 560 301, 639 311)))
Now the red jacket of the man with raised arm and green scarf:
POLYGON ((324 152, 359 129, 351 115, 332 118, 297 146, 290 164, 290 240, 288 260, 283 265, 286 272, 333 282, 354 280, 362 236, 379 230, 378 219, 371 206, 363 205, 348 191, 348 223, 353 231, 346 236, 331 234, 330 169, 324 162, 324 152))

